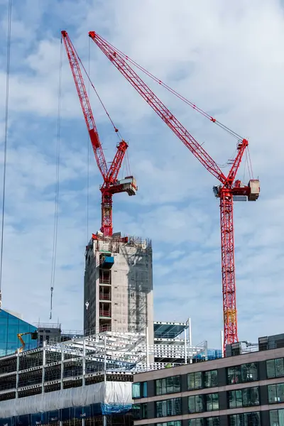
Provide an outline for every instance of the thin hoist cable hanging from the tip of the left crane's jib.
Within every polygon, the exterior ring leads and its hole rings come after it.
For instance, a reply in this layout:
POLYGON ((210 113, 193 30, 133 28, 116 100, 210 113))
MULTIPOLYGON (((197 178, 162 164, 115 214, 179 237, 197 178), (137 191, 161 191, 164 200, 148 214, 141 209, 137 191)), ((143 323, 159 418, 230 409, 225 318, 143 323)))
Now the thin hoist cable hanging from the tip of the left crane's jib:
POLYGON ((54 200, 54 224, 53 224, 53 256, 50 278, 50 320, 53 316, 53 290, 55 284, 56 256, 58 246, 58 210, 59 210, 59 180, 60 180, 60 127, 61 127, 61 86, 62 86, 62 41, 60 43, 60 64, 58 81, 58 129, 56 138, 56 174, 55 174, 55 200, 54 200))

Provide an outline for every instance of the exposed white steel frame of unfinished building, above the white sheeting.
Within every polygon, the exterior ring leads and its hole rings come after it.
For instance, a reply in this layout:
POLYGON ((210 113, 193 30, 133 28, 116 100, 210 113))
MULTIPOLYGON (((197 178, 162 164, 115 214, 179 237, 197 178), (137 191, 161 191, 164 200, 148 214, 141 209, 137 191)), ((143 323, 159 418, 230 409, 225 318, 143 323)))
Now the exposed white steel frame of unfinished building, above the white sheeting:
POLYGON ((132 381, 133 374, 191 362, 207 354, 207 342, 186 339, 148 345, 141 333, 104 332, 0 358, 1 400, 87 386, 100 381, 132 381), (149 362, 150 357, 165 361, 149 362))

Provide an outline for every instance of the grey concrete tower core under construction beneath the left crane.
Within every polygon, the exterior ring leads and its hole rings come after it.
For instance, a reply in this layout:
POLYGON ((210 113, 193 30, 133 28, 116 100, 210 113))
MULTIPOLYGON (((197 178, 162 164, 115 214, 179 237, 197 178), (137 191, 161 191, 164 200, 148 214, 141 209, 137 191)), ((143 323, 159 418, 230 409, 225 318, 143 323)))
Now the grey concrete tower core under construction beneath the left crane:
POLYGON ((153 344, 151 241, 93 234, 86 247, 84 332, 142 332, 153 344))

